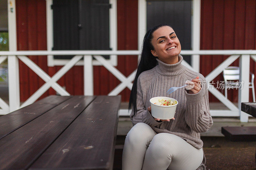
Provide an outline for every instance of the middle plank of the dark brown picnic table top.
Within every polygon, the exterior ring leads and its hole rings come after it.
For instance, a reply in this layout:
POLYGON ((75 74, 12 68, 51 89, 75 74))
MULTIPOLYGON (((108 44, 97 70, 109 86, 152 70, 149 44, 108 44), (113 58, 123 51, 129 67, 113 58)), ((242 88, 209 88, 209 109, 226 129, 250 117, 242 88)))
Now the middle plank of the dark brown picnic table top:
POLYGON ((0 140, 0 169, 26 169, 95 99, 74 96, 0 140))

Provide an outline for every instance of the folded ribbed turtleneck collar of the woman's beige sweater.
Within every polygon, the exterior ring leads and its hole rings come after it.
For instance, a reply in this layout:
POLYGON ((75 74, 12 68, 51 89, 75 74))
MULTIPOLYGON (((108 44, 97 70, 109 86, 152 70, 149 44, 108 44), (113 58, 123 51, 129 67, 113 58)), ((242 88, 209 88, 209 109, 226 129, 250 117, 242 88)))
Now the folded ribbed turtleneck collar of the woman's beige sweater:
POLYGON ((179 74, 182 74, 185 70, 186 67, 181 64, 183 57, 181 55, 178 55, 179 62, 175 64, 166 64, 156 58, 158 65, 156 66, 156 71, 159 74, 165 75, 165 76, 176 76, 179 74))

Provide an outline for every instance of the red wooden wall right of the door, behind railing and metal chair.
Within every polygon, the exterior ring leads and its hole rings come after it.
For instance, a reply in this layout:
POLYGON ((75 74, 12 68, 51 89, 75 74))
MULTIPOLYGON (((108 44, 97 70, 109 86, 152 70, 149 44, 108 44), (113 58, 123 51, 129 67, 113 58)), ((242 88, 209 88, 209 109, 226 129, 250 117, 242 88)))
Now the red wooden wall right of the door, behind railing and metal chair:
MULTIPOLYGON (((201 49, 256 49, 255 0, 203 0, 201 1, 201 49)), ((208 75, 228 56, 201 55, 200 73, 208 75)), ((232 66, 239 66, 237 59, 232 66)), ((251 59, 250 71, 256 74, 251 59)), ((213 80, 223 81, 220 74, 213 80)), ((254 80, 256 83, 256 80, 254 80)), ((216 86, 216 85, 215 85, 216 86)), ((220 90, 224 94, 224 90, 220 90)), ((237 90, 228 90, 228 99, 237 102, 237 90)), ((212 94, 209 101, 219 101, 212 94)), ((252 90, 250 89, 250 101, 252 90)))

